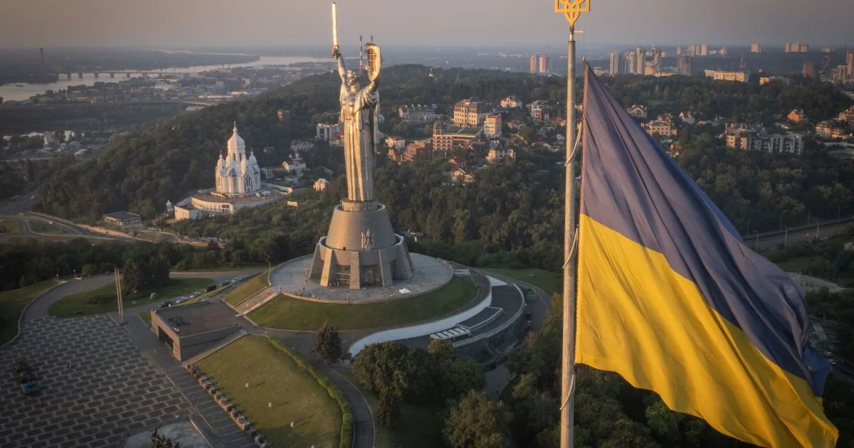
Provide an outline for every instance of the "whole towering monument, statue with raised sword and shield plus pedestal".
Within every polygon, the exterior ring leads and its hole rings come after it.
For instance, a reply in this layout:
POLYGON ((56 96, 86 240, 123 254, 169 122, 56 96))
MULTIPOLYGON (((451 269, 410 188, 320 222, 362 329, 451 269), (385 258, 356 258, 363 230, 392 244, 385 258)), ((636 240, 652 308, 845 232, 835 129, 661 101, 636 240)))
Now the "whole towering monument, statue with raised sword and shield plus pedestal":
POLYGON ((339 100, 347 198, 332 212, 329 232, 314 249, 309 276, 324 287, 391 286, 395 278, 412 277, 412 259, 406 240, 395 235, 385 206, 374 198, 382 54, 372 41, 365 45, 368 84, 361 87, 362 67, 345 67, 336 22, 336 4, 332 3, 332 57, 342 83, 339 100))

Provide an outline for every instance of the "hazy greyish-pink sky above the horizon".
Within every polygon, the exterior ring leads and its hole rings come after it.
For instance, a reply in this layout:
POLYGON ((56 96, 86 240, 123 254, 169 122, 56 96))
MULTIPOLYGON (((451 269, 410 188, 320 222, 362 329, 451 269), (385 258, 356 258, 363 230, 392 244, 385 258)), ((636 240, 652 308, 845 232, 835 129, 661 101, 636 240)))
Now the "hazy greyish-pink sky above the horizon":
MULTIPOLYGON (((590 44, 854 45, 851 0, 593 0, 590 44)), ((0 46, 249 46, 331 42, 319 0, 0 0, 0 46)), ((339 36, 424 46, 561 45, 553 0, 340 0, 339 36)))

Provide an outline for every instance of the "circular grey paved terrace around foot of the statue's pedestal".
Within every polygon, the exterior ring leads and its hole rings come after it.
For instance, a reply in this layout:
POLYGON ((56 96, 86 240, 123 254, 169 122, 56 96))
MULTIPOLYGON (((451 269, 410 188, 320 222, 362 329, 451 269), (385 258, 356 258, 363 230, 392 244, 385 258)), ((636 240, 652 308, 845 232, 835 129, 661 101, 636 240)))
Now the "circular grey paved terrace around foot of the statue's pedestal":
POLYGON ((353 289, 348 286, 321 286, 312 279, 312 255, 286 261, 270 273, 270 285, 294 299, 336 304, 365 304, 411 299, 442 288, 453 278, 453 266, 442 259, 411 253, 412 277, 396 279, 391 286, 353 289))

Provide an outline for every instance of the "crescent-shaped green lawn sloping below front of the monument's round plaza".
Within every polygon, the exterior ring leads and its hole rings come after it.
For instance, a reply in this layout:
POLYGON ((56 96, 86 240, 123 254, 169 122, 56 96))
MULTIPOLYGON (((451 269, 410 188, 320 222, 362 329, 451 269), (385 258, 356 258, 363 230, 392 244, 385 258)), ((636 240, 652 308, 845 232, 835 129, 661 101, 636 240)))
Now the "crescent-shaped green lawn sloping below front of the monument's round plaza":
POLYGON ((457 276, 444 287, 412 299, 365 305, 329 304, 279 295, 249 313, 262 327, 315 331, 324 323, 339 330, 374 329, 443 316, 468 304, 477 288, 457 276))

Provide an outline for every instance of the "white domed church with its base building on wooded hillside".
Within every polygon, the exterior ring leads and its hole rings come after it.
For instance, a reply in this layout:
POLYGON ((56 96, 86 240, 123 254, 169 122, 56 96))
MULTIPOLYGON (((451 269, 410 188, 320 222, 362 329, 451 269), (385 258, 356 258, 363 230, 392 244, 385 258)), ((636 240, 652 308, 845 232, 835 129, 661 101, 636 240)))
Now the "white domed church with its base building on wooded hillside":
POLYGON ((225 157, 219 153, 213 176, 215 188, 199 190, 174 206, 176 219, 233 213, 240 208, 258 207, 284 198, 278 191, 262 186, 258 160, 251 152, 246 156, 246 142, 237 133, 237 123, 226 143, 225 157))

